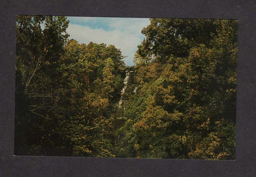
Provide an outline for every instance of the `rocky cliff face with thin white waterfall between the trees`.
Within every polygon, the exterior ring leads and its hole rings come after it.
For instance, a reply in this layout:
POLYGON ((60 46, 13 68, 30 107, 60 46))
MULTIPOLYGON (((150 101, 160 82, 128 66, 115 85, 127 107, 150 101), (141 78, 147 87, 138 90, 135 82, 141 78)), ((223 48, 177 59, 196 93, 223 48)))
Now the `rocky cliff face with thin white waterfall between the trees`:
POLYGON ((127 101, 132 94, 137 93, 138 87, 135 85, 134 71, 132 67, 125 68, 124 87, 121 90, 121 97, 119 102, 116 104, 116 118, 124 119, 124 111, 127 109, 127 101))

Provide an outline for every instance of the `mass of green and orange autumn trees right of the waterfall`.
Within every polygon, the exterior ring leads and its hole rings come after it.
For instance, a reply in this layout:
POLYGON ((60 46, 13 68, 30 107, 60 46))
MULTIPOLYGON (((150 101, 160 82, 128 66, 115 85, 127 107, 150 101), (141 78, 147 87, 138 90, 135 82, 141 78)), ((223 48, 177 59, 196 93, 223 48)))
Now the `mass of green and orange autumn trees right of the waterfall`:
POLYGON ((142 33, 120 156, 234 159, 237 21, 151 19, 142 33))

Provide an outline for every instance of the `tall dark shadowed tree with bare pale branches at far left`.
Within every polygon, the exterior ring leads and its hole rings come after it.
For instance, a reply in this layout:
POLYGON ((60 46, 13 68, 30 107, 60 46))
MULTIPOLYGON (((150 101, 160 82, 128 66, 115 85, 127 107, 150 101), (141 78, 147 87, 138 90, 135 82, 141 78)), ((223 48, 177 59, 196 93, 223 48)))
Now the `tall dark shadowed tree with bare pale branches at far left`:
POLYGON ((54 68, 68 38, 67 27, 66 17, 17 16, 15 154, 55 150, 53 141, 59 133, 50 111, 57 99, 54 68))

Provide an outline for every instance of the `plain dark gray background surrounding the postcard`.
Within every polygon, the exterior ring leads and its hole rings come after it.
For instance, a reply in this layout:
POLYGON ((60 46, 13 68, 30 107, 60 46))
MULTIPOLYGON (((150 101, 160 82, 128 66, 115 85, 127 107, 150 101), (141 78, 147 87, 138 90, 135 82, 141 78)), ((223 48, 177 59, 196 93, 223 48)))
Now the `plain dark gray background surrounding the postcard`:
POLYGON ((256 1, 1 0, 0 176, 256 176, 256 1), (238 19, 236 160, 13 156, 16 15, 238 19))

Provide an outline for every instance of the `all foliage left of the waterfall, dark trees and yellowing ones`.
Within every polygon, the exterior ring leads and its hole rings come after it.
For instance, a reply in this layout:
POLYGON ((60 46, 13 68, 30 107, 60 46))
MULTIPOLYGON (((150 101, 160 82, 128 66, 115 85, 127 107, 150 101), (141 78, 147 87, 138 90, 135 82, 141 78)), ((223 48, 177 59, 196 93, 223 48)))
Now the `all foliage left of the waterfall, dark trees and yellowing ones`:
POLYGON ((124 57, 68 40, 67 27, 66 17, 17 16, 15 154, 113 157, 124 57))

